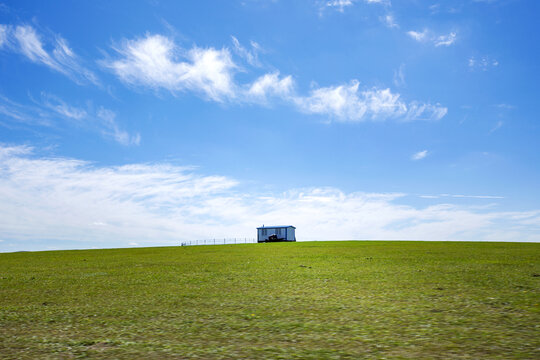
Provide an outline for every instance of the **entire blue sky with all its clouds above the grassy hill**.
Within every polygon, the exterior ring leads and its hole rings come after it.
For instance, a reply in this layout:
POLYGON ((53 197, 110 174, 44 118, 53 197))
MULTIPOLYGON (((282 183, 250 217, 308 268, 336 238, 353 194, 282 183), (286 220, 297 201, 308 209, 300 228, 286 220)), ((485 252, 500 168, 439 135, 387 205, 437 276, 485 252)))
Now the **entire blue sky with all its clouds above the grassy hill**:
POLYGON ((0 4, 0 251, 540 241, 536 1, 0 4))

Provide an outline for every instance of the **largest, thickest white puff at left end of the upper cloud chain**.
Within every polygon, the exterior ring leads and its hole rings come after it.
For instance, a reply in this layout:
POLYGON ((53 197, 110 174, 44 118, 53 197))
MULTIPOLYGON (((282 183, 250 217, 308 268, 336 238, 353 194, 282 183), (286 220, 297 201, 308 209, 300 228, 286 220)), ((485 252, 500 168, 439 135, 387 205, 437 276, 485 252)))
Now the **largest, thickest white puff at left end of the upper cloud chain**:
POLYGON ((146 35, 124 41, 115 50, 122 58, 105 64, 125 83, 173 92, 191 90, 220 102, 235 96, 236 65, 225 48, 184 51, 165 36, 146 35))

